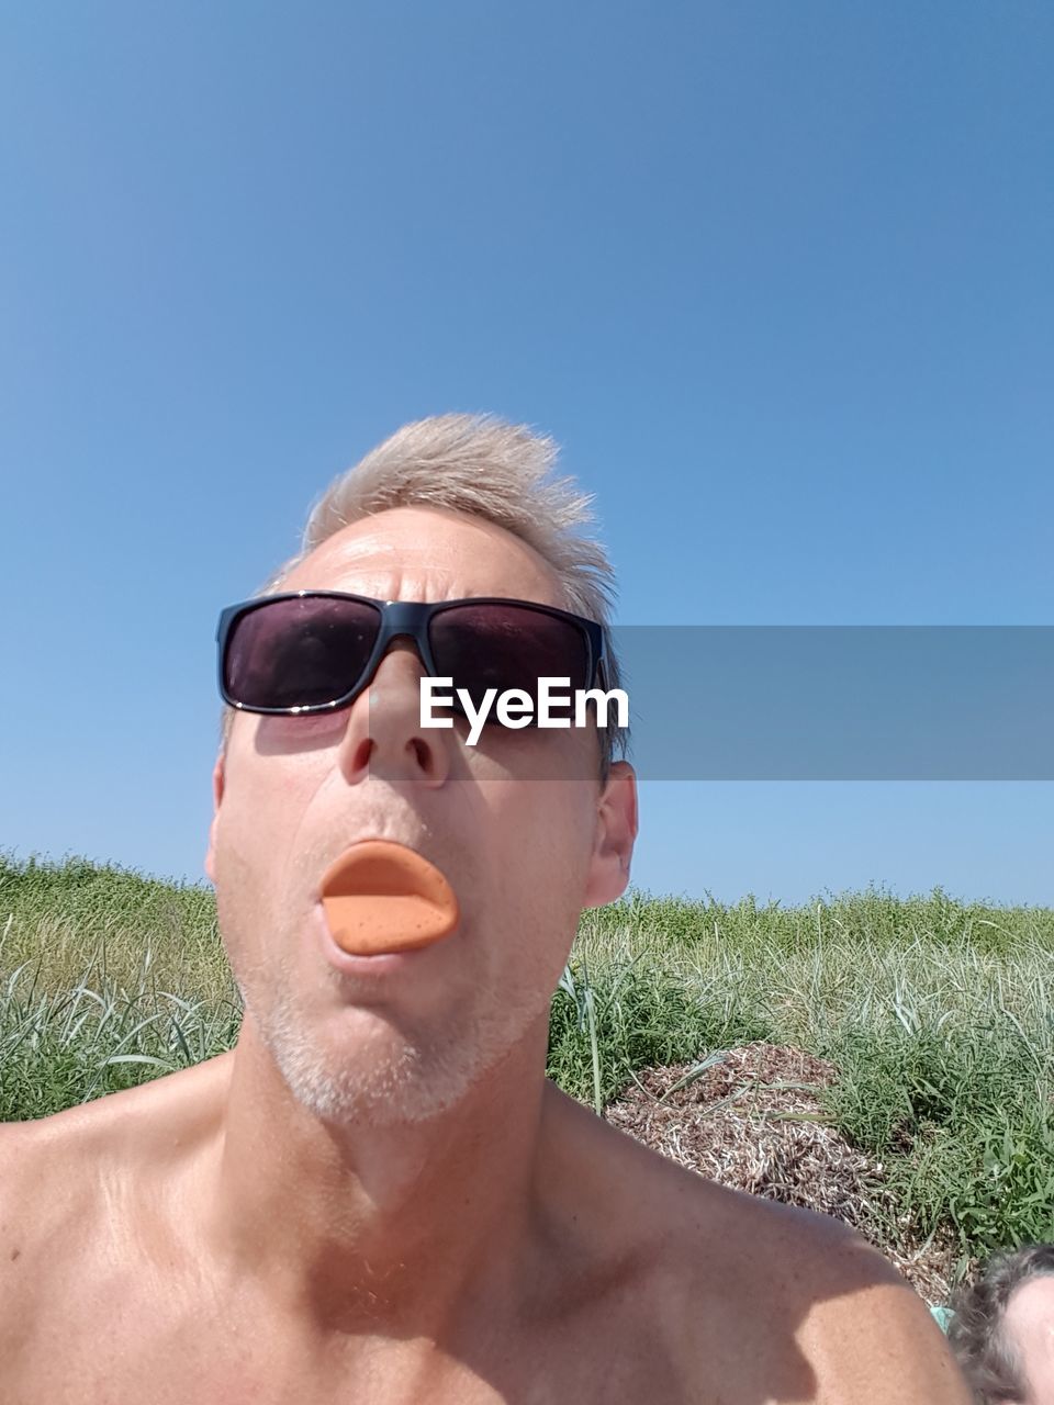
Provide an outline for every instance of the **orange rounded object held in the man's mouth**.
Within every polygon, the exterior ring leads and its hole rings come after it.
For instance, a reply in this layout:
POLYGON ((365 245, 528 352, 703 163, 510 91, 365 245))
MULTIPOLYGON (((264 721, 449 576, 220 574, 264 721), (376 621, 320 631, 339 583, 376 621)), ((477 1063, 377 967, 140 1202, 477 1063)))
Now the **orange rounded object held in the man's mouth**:
POLYGON ((389 839, 353 844, 326 870, 322 908, 340 950, 360 957, 429 947, 460 917, 438 868, 389 839))

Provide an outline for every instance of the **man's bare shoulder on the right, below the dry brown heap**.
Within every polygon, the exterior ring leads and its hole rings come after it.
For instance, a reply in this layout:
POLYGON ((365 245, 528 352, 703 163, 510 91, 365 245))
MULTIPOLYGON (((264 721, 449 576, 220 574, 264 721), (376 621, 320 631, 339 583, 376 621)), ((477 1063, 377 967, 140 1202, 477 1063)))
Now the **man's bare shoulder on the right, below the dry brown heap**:
MULTIPOLYGON (((589 1114, 586 1114, 589 1116, 589 1114)), ((594 1198, 644 1255, 689 1398, 812 1405, 968 1405, 929 1309, 840 1221, 714 1182, 593 1117, 594 1198)))

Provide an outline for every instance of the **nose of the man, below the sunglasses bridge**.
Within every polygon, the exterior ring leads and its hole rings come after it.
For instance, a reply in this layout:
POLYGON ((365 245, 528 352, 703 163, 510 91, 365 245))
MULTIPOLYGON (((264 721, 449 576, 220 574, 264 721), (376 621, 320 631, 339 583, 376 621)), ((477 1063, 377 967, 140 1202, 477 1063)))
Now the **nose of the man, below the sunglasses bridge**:
POLYGON ((395 639, 349 711, 340 767, 351 783, 368 773, 438 787, 450 774, 450 729, 420 725, 424 666, 409 639, 395 639))

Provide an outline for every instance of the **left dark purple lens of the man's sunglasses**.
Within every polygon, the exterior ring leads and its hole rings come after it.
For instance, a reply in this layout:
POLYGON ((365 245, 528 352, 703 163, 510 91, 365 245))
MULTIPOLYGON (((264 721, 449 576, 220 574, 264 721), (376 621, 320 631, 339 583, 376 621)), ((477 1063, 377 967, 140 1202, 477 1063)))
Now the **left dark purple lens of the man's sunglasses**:
POLYGON ((223 653, 228 698, 247 708, 319 707, 363 676, 381 614, 358 600, 299 596, 246 611, 223 653))

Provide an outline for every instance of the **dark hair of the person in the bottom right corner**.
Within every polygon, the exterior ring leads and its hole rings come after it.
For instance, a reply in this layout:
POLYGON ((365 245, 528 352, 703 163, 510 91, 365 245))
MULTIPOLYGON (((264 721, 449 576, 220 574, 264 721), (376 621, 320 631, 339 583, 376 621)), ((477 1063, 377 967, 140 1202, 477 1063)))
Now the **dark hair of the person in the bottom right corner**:
POLYGON ((1015 1288, 1044 1274, 1054 1274, 1054 1243, 1029 1243, 996 1255, 956 1294, 949 1342, 978 1405, 1027 1399, 1020 1353, 1008 1340, 1003 1318, 1015 1288))

